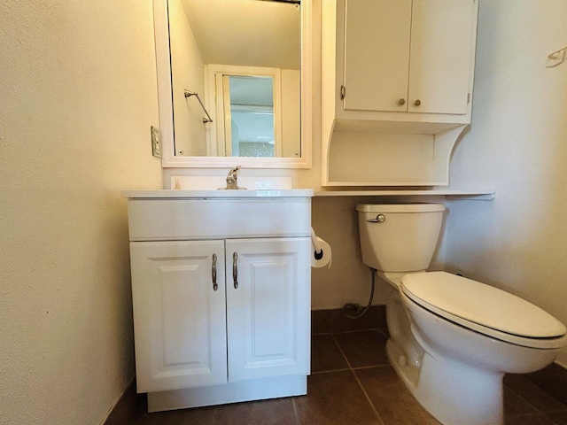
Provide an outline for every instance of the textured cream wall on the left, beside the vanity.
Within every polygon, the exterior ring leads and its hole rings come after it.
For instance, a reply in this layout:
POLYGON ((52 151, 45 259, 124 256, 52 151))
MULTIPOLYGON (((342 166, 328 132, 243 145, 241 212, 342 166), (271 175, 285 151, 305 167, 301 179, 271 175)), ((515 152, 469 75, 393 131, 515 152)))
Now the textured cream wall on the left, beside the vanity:
POLYGON ((98 424, 134 375, 126 200, 159 188, 150 1, 0 3, 0 422, 98 424))

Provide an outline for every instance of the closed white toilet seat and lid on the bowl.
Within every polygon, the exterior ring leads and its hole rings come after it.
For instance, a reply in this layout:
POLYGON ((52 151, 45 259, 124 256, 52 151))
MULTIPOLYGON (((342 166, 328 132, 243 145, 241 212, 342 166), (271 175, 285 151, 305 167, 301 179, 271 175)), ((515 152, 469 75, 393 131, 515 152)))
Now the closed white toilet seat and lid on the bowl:
POLYGON ((431 313, 511 344, 555 349, 567 339, 563 323, 540 307, 455 274, 406 274, 400 290, 431 313))

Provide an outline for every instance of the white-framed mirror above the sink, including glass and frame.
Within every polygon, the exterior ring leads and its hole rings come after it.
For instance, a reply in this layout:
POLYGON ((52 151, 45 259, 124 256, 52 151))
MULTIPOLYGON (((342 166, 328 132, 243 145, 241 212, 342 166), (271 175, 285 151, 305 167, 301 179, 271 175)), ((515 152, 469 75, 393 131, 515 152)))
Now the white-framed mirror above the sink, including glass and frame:
POLYGON ((311 166, 311 4, 297 3, 154 0, 163 166, 311 166))

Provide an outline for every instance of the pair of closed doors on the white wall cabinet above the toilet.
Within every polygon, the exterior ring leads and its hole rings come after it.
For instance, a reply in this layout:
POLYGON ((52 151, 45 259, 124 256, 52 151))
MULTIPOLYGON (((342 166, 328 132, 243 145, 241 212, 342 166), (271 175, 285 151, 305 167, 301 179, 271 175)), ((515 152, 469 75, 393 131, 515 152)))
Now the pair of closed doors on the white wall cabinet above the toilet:
POLYGON ((344 109, 466 114, 473 17, 472 0, 347 1, 344 109))

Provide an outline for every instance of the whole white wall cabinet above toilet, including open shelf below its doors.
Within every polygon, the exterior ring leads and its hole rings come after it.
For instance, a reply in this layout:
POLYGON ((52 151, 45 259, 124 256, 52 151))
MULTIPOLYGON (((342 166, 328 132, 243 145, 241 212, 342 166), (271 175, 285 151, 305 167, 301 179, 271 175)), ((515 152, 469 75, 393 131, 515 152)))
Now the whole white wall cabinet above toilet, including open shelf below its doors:
POLYGON ((477 15, 477 0, 323 2, 323 185, 448 184, 470 124, 477 15))

